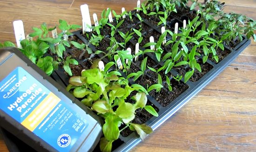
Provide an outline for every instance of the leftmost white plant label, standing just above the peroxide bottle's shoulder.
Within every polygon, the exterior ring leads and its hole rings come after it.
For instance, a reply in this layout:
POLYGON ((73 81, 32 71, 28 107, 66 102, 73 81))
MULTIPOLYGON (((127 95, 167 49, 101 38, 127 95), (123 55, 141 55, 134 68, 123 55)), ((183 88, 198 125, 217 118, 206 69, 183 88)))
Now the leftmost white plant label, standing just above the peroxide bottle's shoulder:
POLYGON ((13 21, 15 39, 17 43, 17 47, 21 48, 20 41, 25 39, 25 32, 22 20, 13 21))

